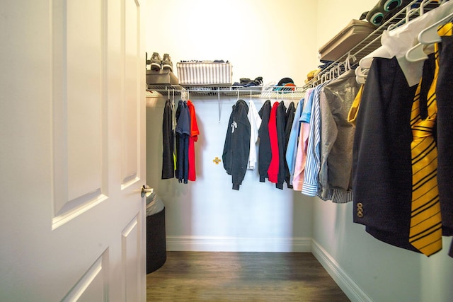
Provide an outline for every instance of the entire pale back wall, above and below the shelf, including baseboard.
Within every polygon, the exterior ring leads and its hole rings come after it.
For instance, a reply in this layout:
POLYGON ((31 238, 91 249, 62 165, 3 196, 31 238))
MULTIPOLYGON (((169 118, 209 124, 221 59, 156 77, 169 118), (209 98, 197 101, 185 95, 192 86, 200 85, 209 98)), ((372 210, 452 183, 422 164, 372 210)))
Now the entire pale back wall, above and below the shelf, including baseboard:
MULTIPOLYGON (((151 0, 147 6, 147 52, 170 54, 175 72, 183 59, 224 59, 233 65, 234 81, 263 76, 268 83, 289 76, 302 86, 318 64, 316 2, 151 0)), ((311 199, 259 182, 252 170, 240 190, 232 190, 231 176, 222 163, 212 161, 222 158, 236 98, 222 98, 220 122, 217 96, 191 100, 200 137, 195 144, 197 180, 187 185, 160 180, 165 100, 149 99, 147 109, 147 178, 166 204, 168 248, 309 251, 311 199)), ((255 99, 258 110, 264 101, 255 99)))

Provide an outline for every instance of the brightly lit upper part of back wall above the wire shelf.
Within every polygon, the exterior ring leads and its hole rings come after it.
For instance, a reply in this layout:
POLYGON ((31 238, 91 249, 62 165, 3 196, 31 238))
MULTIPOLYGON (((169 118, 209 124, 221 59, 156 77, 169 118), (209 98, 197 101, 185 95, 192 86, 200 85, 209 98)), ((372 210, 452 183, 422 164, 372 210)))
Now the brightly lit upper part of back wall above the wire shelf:
POLYGON ((301 85, 316 60, 316 1, 148 0, 147 52, 224 59, 234 81, 291 76, 301 85))

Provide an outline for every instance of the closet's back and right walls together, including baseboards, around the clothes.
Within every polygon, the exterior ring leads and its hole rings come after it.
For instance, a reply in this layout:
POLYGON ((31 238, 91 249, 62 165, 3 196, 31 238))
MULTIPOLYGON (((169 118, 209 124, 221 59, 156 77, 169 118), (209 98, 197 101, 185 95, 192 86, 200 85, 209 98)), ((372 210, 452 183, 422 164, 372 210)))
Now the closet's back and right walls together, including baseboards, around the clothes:
MULTIPOLYGON (((147 1, 147 51, 181 59, 228 59, 233 79, 290 76, 302 86, 319 46, 377 0, 147 1)), ((258 182, 239 191, 222 163, 236 98, 191 98, 197 110, 197 180, 161 180, 165 98, 147 99, 147 181, 166 204, 169 250, 313 251, 352 301, 451 301, 447 248, 427 258, 381 243, 352 223, 352 204, 332 204, 258 182)), ((248 101, 248 98, 244 98, 248 101)), ((178 98, 176 98, 178 100, 178 98)), ((264 100, 253 99, 258 107, 264 100)), ((287 102, 287 101, 286 101, 287 102)), ((445 247, 451 238, 445 238, 445 247)))

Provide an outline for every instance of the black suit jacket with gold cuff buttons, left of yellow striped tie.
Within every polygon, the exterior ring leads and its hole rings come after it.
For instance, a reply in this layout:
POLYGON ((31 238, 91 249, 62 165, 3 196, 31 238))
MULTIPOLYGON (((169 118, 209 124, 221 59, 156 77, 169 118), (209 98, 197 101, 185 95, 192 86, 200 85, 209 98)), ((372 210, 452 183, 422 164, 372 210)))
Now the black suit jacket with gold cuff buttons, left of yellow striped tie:
POLYGON ((411 107, 396 58, 374 58, 357 113, 352 151, 354 222, 375 238, 418 251, 408 241, 411 219, 411 107))

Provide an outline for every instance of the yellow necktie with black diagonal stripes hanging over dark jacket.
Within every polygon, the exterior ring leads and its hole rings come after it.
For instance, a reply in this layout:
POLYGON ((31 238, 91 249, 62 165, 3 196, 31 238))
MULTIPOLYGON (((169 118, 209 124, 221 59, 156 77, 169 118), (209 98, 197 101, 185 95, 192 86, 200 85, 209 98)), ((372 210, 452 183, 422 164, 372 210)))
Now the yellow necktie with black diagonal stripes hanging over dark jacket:
MULTIPOLYGON (((428 90, 426 108, 428 116, 420 117, 420 86, 418 85, 411 112, 413 140, 412 202, 409 242, 430 256, 442 249, 442 220, 439 192, 437 190, 437 146, 432 135, 436 123, 437 103, 435 88, 438 71, 438 49, 435 45, 434 79, 428 90)), ((422 79, 423 81, 423 79, 422 79)))

